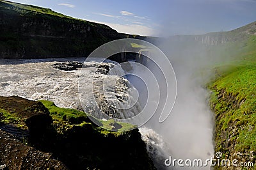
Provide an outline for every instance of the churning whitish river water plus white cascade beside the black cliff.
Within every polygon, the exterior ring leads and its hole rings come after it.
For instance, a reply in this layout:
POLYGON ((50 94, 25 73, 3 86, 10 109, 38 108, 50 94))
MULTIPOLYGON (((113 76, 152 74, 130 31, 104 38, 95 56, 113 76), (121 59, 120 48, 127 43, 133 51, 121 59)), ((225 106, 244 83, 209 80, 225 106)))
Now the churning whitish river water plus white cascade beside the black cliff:
MULTIPOLYGON (((28 98, 29 100, 50 100, 54 102, 58 107, 67 107, 81 110, 82 108, 77 89, 80 71, 61 71, 53 68, 53 64, 63 61, 83 62, 84 59, 1 59, 0 95, 6 97, 18 95, 19 97, 28 98)), ((95 82, 95 76, 93 76, 93 72, 95 72, 97 63, 86 63, 86 65, 86 68, 88 69, 83 71, 83 76, 86 77, 86 81, 83 82, 84 87, 89 86, 92 81, 95 82)), ((94 95, 101 93, 102 88, 100 88, 100 84, 102 84, 102 79, 106 76, 108 76, 108 81, 116 81, 116 77, 114 75, 97 74, 97 81, 95 82, 96 88, 93 89, 95 90, 93 91, 94 95), (97 86, 97 84, 99 86, 97 86)), ((122 87, 117 92, 113 90, 113 87, 110 85, 109 87, 106 87, 106 90, 109 91, 109 93, 105 95, 108 96, 108 99, 112 101, 113 104, 116 104, 114 100, 114 98, 116 98, 116 93, 121 99, 124 99, 125 97, 127 98, 127 95, 131 95, 131 93, 127 93, 127 88, 131 88, 132 85, 129 84, 129 81, 126 79, 122 79, 122 81, 122 87)), ((132 98, 131 96, 128 97, 132 98)), ((92 97, 88 97, 87 100, 92 100, 92 97)), ((104 104, 102 105, 102 107, 104 107, 104 104)), ((109 104, 106 103, 106 105, 109 104)), ((97 111, 95 106, 92 105, 87 109, 88 111, 97 111)), ((113 109, 111 107, 105 109, 108 109, 109 112, 116 112, 111 110, 113 109)), ((126 112, 122 112, 120 118, 134 116, 136 113, 141 111, 141 107, 137 102, 136 107, 133 107, 132 111, 124 111, 126 112)), ((157 167, 159 167, 159 169, 163 169, 161 166, 159 166, 160 162, 162 162, 164 158, 164 153, 162 150, 162 148, 164 148, 163 139, 161 139, 161 136, 159 136, 156 132, 154 132, 154 130, 150 128, 140 128, 140 133, 143 141, 145 141, 147 144, 147 150, 150 157, 153 158, 154 163, 157 167)))

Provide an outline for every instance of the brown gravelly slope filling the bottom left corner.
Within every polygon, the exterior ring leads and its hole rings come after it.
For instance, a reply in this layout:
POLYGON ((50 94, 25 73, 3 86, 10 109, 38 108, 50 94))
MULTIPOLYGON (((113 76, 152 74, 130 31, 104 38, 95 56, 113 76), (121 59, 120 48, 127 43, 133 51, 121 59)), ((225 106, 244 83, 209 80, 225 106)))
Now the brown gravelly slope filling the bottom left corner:
POLYGON ((0 130, 0 143, 0 165, 3 169, 68 169, 50 153, 35 150, 3 130, 0 130))

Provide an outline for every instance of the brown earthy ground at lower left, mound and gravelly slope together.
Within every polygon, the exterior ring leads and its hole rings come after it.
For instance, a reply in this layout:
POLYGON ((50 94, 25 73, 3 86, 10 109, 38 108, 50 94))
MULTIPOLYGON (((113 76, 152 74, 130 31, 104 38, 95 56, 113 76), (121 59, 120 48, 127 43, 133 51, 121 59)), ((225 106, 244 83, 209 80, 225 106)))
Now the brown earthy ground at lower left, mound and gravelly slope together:
POLYGON ((42 103, 17 96, 0 97, 0 109, 0 164, 4 169, 68 169, 51 154, 26 145, 51 134, 47 129, 52 118, 42 103))

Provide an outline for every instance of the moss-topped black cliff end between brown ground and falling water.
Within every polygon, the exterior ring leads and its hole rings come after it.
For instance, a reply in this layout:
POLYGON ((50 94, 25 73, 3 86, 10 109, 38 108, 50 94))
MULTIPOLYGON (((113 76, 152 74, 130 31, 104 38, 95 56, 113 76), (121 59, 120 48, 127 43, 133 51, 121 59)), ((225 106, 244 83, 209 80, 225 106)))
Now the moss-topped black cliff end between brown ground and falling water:
MULTIPOLYGON (((77 160, 73 157, 63 157, 63 147, 69 146, 66 148, 70 152, 74 152, 81 157, 76 158, 81 162, 86 162, 89 169, 95 167, 101 167, 100 169, 106 169, 106 167, 112 167, 115 164, 113 162, 118 162, 118 160, 125 162, 126 160, 140 159, 140 157, 146 158, 143 160, 145 163, 136 164, 140 167, 145 165, 150 167, 150 169, 155 169, 151 167, 151 160, 148 159, 147 152, 145 150, 145 143, 141 141, 140 133, 138 129, 130 130, 128 132, 122 132, 123 130, 133 129, 134 126, 127 123, 119 123, 114 120, 94 120, 102 123, 102 127, 95 125, 92 122, 91 118, 81 111, 76 111, 74 109, 60 108, 56 107, 53 102, 46 100, 40 100, 42 104, 47 107, 50 111, 50 115, 53 119, 53 126, 58 130, 58 149, 56 152, 56 157, 60 158, 64 162, 68 162, 68 166, 74 167, 74 162, 77 160), (113 126, 121 128, 118 129, 118 132, 111 131, 113 126), (79 143, 79 144, 77 144, 79 143), (136 143, 136 144, 135 144, 136 143), (77 146, 78 145, 78 146, 77 146), (138 149, 130 149, 131 147, 139 147, 138 149), (144 147, 144 148, 143 148, 144 147), (143 149, 143 152, 139 150, 143 149), (135 153, 133 153, 134 151, 135 153), (126 154, 127 153, 127 154, 126 154), (121 157, 116 157, 116 155, 122 155, 121 157), (139 156, 138 156, 139 155, 139 156), (124 159, 126 159, 124 161, 124 159), (148 159, 148 160, 147 160, 148 159), (103 165, 103 167, 102 167, 103 165)), ((124 167, 123 163, 120 163, 124 167)), ((129 161, 130 162, 130 161, 129 161)), ((132 160, 134 162, 134 160, 132 160)), ((119 163, 118 163, 119 164, 119 163)), ((77 165, 76 165, 77 166, 77 165)), ((79 166, 77 166, 79 167, 79 166)), ((118 168, 118 169, 121 169, 118 168)))

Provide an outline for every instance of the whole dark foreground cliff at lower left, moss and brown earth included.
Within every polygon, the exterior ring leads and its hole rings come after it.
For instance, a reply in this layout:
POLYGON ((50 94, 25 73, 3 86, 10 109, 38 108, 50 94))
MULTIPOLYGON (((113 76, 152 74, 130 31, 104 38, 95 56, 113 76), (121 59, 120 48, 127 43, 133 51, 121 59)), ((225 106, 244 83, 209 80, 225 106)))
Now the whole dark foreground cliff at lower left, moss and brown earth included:
POLYGON ((46 100, 0 97, 0 141, 5 169, 155 169, 138 129, 110 132, 46 100))

